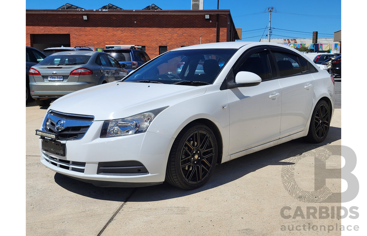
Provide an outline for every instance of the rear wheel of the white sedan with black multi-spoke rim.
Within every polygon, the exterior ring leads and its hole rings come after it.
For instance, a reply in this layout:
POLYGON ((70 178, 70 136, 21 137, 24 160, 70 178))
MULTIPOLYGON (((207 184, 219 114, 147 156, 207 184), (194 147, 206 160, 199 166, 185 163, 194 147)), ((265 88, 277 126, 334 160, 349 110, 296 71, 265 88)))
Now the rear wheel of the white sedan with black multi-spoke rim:
POLYGON ((331 112, 326 101, 317 102, 313 110, 308 135, 306 141, 311 143, 321 143, 326 139, 329 132, 331 112))

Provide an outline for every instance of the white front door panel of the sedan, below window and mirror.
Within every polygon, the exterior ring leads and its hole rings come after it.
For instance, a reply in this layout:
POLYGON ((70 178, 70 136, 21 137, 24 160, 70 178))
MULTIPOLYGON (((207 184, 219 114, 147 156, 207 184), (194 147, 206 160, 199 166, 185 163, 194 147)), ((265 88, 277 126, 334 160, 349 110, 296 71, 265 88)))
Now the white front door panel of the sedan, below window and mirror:
POLYGON ((279 139, 282 92, 277 79, 227 91, 231 124, 229 154, 279 139), (272 94, 279 97, 270 99, 272 94))

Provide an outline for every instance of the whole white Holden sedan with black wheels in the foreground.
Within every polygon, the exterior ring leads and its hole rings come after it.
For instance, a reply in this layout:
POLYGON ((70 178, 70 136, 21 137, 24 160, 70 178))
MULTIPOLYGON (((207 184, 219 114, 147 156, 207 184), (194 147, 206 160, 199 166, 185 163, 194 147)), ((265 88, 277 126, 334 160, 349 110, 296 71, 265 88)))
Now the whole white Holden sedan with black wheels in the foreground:
POLYGON ((288 46, 201 44, 59 98, 36 134, 41 163, 63 175, 194 189, 217 164, 300 137, 323 142, 334 99, 334 78, 288 46))

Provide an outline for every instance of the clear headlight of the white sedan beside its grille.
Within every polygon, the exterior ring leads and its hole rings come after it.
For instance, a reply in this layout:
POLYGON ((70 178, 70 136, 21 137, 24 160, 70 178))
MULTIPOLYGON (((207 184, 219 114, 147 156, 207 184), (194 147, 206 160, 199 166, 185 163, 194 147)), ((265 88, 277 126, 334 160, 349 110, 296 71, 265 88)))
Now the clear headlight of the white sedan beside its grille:
POLYGON ((149 110, 134 116, 117 120, 106 120, 101 130, 101 138, 138 134, 145 132, 152 120, 168 106, 149 110))

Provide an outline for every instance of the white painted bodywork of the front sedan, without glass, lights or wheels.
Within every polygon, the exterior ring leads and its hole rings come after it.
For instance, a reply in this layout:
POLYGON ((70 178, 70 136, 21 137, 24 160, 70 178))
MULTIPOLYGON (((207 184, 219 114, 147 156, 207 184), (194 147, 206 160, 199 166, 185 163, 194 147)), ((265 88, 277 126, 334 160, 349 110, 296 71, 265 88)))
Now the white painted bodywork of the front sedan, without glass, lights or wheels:
MULTIPOLYGON (((263 45, 286 48, 302 55, 288 46, 263 42, 187 46, 172 51, 206 48, 239 50, 210 85, 116 82, 79 90, 59 98, 50 105, 48 111, 94 116, 94 121, 83 138, 61 141, 66 144, 65 157, 42 151, 40 139, 41 162, 55 172, 84 180, 161 183, 165 179, 167 160, 175 138, 193 121, 208 122, 218 130, 222 143, 222 149, 219 150, 222 154, 219 157, 220 163, 306 136, 313 109, 320 99, 330 101, 331 113, 334 111, 333 82, 327 71, 320 70, 315 63, 311 62, 317 72, 266 80, 255 86, 221 90, 226 76, 239 57, 246 50, 263 45), (126 118, 166 106, 153 119, 146 132, 100 137, 105 120, 126 118), (47 158, 86 162, 84 173, 59 168, 62 163, 55 166, 47 158), (97 166, 101 161, 139 161, 149 173, 98 175, 97 166)), ((128 76, 138 71, 130 72, 128 76)))

